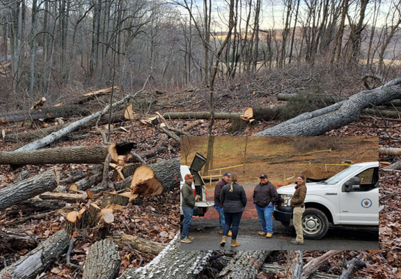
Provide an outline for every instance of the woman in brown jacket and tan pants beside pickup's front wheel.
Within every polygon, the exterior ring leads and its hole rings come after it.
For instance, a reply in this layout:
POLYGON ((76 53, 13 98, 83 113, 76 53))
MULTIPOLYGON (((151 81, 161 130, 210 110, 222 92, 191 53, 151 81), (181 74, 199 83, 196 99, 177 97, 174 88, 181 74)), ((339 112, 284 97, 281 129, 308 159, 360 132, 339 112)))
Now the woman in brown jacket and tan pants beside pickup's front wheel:
POLYGON ((297 186, 291 199, 291 206, 294 208, 292 211, 292 221, 294 223, 295 232, 297 232, 297 239, 292 239, 291 244, 304 244, 304 232, 302 230, 302 215, 305 212, 305 197, 306 197, 306 177, 304 174, 297 175, 297 186))

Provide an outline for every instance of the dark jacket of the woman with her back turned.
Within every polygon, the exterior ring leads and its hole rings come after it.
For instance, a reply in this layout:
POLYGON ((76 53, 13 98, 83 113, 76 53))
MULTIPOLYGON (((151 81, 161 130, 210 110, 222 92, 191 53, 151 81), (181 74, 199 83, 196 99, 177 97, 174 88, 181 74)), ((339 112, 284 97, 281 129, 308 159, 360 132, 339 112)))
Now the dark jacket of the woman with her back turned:
POLYGON ((223 211, 227 213, 243 212, 246 206, 246 194, 242 186, 233 184, 233 192, 230 192, 231 185, 226 184, 221 189, 220 200, 223 204, 223 211))

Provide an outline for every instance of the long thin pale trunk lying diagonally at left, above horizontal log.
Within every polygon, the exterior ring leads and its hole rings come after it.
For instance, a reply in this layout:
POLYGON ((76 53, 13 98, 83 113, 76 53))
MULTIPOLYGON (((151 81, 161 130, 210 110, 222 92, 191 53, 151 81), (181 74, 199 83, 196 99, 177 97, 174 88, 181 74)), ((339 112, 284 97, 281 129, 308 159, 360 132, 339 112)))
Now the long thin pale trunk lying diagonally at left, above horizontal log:
MULTIPOLYGON (((148 82, 148 80, 146 80, 146 83, 148 82)), ((145 88, 145 85, 143 86, 143 89, 145 88)), ((36 149, 40 149, 43 146, 47 146, 48 144, 51 144, 52 142, 61 139, 62 137, 64 137, 65 135, 68 135, 68 133, 73 132, 74 130, 77 130, 79 127, 99 118, 100 116, 102 116, 103 114, 107 114, 107 112, 109 112, 109 110, 113 107, 118 107, 119 105, 122 105, 123 103, 125 103, 127 100, 135 98, 136 95, 138 95, 139 93, 141 93, 143 91, 143 89, 141 89, 140 91, 137 91, 134 94, 125 96, 123 99, 118 100, 117 102, 111 104, 111 105, 107 105, 106 107, 104 107, 103 110, 101 110, 100 112, 95 112, 94 114, 91 114, 89 116, 86 116, 84 119, 80 119, 78 121, 75 121, 73 123, 71 123, 70 125, 66 126, 65 128, 58 130, 57 132, 54 132, 50 135, 47 135, 46 137, 43 137, 40 140, 36 140, 35 142, 31 142, 30 144, 26 144, 24 146, 22 146, 21 148, 17 149, 17 151, 33 151, 36 149)))

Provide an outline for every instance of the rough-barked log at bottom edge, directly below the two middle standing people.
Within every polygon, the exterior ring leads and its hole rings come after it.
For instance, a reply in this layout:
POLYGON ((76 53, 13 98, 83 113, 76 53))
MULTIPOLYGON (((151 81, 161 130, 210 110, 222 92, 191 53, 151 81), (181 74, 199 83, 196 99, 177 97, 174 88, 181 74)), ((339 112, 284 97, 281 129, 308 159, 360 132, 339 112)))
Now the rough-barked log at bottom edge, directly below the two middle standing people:
POLYGON ((253 279, 271 251, 239 251, 220 271, 218 278, 253 279))

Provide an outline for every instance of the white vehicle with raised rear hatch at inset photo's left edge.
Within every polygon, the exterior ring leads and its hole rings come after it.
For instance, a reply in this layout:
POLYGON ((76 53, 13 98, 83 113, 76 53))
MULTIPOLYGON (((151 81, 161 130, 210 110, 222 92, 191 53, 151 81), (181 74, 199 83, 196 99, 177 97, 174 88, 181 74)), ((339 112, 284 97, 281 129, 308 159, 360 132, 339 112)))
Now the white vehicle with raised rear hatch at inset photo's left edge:
MULTIPOLYGON (((191 167, 186 165, 181 165, 181 183, 180 189, 182 185, 184 185, 184 176, 185 174, 192 174, 194 176, 194 183, 192 183, 192 189, 194 190, 194 195, 199 196, 199 201, 195 202, 194 216, 205 216, 207 209, 210 206, 214 206, 213 201, 206 200, 206 186, 205 181, 203 181, 201 174, 199 173, 206 163, 206 158, 201 154, 196 153, 194 160, 192 161, 191 167)), ((180 197, 182 203, 182 196, 180 197)), ((182 208, 180 206, 180 220, 182 221, 182 208)))

